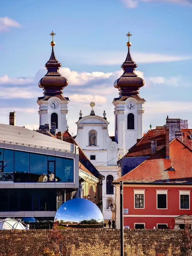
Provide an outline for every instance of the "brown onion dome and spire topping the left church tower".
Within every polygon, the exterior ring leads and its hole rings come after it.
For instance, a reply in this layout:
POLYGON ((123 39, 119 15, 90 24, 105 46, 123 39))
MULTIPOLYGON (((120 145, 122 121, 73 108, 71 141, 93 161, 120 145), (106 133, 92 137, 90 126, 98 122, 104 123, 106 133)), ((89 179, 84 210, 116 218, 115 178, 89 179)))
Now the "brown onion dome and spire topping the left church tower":
POLYGON ((52 31, 50 35, 52 35, 52 52, 50 59, 45 64, 47 73, 43 78, 39 80, 38 86, 43 88, 44 95, 55 96, 63 93, 62 90, 68 85, 68 80, 59 73, 61 63, 56 59, 54 53, 55 42, 53 41, 53 36, 55 33, 52 31))

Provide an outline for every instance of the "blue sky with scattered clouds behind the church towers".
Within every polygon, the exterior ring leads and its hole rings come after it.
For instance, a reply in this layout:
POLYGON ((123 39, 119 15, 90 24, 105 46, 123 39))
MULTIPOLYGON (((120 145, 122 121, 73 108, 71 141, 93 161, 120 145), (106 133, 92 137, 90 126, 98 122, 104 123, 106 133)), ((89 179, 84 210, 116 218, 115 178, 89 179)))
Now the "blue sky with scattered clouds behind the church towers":
POLYGON ((114 135, 113 98, 119 96, 114 81, 122 75, 130 31, 131 55, 144 105, 144 132, 164 125, 166 117, 191 116, 192 0, 9 0, 0 9, 0 122, 37 129, 37 98, 43 96, 38 81, 51 54, 49 35, 55 32, 55 55, 60 73, 68 79, 69 132, 75 122, 105 110, 110 136, 114 135))

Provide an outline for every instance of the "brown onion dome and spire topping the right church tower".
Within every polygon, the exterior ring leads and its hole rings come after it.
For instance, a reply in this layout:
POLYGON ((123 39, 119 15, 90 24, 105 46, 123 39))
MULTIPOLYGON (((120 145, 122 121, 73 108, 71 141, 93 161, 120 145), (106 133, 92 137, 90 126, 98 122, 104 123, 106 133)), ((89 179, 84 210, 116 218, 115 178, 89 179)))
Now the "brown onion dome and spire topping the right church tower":
MULTIPOLYGON (((131 36, 130 32, 127 34, 131 36)), ((121 68, 123 69, 123 75, 120 76, 115 82, 114 87, 118 88, 120 97, 133 96, 139 94, 139 89, 144 85, 144 80, 135 74, 137 64, 133 61, 130 53, 131 42, 127 42, 128 54, 125 62, 123 62, 121 68)))

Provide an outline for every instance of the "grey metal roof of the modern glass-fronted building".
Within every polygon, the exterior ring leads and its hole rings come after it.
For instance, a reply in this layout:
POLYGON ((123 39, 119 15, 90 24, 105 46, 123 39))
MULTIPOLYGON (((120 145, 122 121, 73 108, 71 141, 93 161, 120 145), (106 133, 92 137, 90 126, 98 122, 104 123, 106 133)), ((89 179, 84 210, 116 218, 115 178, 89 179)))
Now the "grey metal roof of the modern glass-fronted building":
POLYGON ((35 131, 0 124, 0 142, 71 152, 71 144, 35 131))

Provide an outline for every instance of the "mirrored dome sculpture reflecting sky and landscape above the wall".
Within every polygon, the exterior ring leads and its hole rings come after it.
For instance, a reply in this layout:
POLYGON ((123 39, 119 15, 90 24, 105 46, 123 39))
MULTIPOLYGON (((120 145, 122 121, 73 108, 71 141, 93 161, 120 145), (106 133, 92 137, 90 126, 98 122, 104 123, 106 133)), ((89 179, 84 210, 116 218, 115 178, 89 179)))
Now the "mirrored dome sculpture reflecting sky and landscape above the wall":
POLYGON ((103 214, 95 203, 75 198, 62 204, 56 215, 58 228, 103 228, 103 214))

